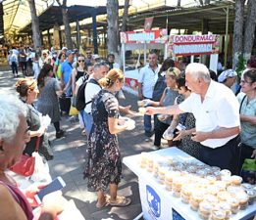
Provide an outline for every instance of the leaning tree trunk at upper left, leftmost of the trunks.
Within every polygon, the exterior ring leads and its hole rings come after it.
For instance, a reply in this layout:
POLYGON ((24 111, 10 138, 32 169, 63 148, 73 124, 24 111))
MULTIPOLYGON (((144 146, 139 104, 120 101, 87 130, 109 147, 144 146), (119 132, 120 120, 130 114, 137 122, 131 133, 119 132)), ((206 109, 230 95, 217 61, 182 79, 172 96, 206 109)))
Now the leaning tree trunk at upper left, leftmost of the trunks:
POLYGON ((32 21, 32 39, 34 48, 41 47, 41 37, 40 37, 40 29, 39 29, 39 20, 36 15, 36 8, 34 4, 34 0, 28 0, 31 21, 32 21))

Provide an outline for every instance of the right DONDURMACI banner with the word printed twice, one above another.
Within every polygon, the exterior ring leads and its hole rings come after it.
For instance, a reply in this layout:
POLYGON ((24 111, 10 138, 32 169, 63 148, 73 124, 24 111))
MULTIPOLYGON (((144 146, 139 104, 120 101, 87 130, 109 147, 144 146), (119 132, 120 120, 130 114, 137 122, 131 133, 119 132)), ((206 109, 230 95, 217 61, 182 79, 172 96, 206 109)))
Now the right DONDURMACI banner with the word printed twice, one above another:
POLYGON ((170 35, 169 51, 173 56, 219 54, 219 35, 170 35))

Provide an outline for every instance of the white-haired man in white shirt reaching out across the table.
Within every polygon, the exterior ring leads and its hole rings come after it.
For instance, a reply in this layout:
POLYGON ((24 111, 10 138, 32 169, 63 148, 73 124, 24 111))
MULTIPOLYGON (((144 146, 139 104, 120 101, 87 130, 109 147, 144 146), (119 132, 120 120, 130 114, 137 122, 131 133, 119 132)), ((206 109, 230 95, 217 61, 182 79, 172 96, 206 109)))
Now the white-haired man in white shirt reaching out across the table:
POLYGON ((240 131, 239 105, 232 91, 211 80, 202 64, 185 69, 186 85, 192 94, 181 104, 166 108, 147 108, 148 114, 192 112, 196 119, 193 141, 200 142, 200 160, 237 173, 236 136, 240 131))

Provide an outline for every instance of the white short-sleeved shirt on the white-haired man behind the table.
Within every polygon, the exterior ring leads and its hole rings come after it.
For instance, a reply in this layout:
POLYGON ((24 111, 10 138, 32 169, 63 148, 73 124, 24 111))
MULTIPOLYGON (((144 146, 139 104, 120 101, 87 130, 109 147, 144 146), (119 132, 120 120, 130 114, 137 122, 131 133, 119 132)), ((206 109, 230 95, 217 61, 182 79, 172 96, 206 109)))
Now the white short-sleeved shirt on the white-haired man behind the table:
MULTIPOLYGON (((203 102, 199 94, 192 93, 179 104, 179 110, 194 114, 196 131, 210 132, 220 127, 231 128, 240 125, 237 99, 230 88, 213 80, 203 102)), ((215 149, 224 146, 234 137, 235 135, 227 138, 207 139, 201 144, 215 149)))

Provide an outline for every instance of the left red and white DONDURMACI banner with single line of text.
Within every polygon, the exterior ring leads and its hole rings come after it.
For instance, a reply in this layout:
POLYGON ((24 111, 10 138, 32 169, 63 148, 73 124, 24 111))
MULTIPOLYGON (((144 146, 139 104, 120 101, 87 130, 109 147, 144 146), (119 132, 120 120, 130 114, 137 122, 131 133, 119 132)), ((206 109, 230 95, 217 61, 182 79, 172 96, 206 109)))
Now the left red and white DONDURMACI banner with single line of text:
POLYGON ((167 29, 145 30, 143 32, 127 31, 120 33, 121 43, 167 43, 167 29))

